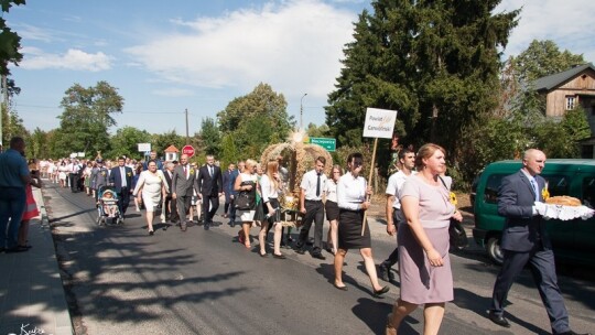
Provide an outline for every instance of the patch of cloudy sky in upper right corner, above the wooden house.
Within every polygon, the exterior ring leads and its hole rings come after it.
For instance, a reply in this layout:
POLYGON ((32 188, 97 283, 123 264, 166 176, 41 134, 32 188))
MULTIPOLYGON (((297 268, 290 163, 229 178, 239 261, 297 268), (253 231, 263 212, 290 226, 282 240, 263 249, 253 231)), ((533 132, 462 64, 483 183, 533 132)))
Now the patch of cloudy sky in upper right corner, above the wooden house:
POLYGON ((533 40, 552 40, 560 50, 583 54, 595 62, 595 1, 573 0, 504 0, 496 12, 522 7, 519 24, 512 30, 506 55, 518 55, 533 40))

